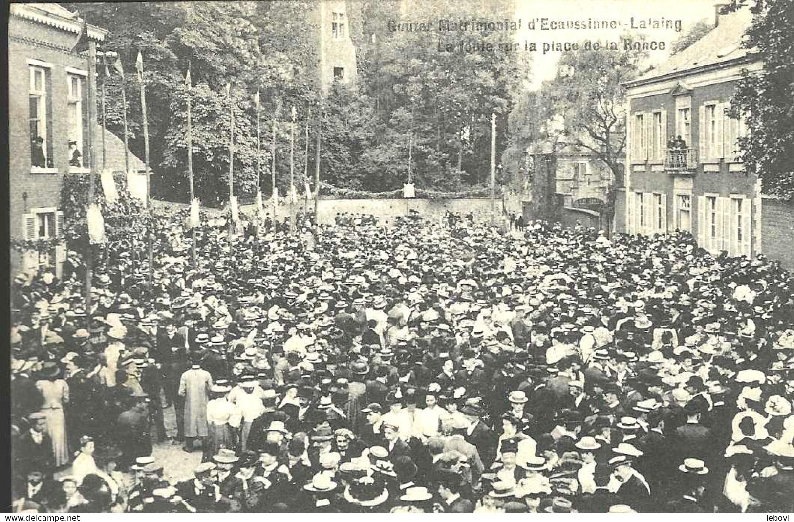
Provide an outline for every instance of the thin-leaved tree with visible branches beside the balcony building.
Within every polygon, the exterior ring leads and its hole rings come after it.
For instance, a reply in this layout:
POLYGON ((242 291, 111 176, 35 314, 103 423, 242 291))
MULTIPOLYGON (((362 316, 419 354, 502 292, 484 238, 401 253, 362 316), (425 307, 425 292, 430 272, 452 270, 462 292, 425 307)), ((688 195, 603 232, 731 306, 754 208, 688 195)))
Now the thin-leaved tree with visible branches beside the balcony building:
MULTIPOLYGON (((615 180, 622 178, 626 148, 626 89, 622 83, 638 74, 644 57, 622 49, 565 52, 557 76, 542 86, 542 96, 564 120, 567 141, 606 164, 615 180)), ((611 218, 614 191, 608 195, 606 211, 611 218)))

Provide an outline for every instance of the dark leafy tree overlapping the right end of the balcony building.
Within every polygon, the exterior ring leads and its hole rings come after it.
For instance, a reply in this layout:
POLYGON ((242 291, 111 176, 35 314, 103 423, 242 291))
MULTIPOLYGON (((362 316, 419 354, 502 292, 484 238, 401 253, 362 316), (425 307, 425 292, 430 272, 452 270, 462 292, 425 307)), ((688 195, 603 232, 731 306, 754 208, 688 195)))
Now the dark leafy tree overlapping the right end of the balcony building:
MULTIPOLYGON (((737 2, 737 9, 744 2, 737 2)), ((764 68, 744 71, 728 115, 745 118, 749 134, 738 140, 739 158, 761 179, 761 190, 794 199, 794 12, 790 2, 758 0, 742 43, 757 49, 764 68)))

